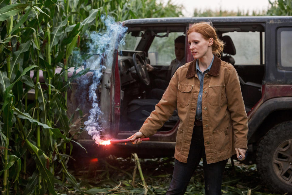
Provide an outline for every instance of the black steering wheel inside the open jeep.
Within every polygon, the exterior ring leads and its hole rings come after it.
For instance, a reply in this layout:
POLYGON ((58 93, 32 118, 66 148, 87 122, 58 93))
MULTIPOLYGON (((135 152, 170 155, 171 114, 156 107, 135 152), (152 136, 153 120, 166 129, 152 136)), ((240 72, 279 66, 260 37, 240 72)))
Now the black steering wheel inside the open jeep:
POLYGON ((148 71, 146 69, 146 64, 143 61, 143 59, 141 58, 141 55, 139 55, 138 53, 134 53, 133 54, 133 61, 134 61, 135 70, 136 70, 136 73, 137 73, 139 79, 145 85, 149 85, 150 84, 149 74, 148 74, 148 71))

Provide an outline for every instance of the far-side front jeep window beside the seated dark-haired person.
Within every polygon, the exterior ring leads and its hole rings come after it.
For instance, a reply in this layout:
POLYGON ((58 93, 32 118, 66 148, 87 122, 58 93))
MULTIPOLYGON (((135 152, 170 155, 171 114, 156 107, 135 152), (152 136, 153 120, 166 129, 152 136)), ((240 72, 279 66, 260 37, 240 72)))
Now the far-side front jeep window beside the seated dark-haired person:
MULTIPOLYGON (((158 33, 158 35, 165 35, 165 33, 158 33)), ((149 50, 148 58, 151 65, 155 66, 169 66, 173 59, 176 59, 174 53, 174 40, 184 35, 181 32, 169 33, 167 37, 155 37, 149 50)))

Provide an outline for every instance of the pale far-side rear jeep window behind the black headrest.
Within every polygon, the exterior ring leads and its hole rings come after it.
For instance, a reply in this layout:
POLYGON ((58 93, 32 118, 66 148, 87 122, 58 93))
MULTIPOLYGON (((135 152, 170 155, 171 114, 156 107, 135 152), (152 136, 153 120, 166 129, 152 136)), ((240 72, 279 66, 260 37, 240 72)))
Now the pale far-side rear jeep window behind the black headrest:
MULTIPOLYGON (((235 64, 240 65, 260 65, 261 63, 261 48, 260 48, 260 33, 255 32, 228 32, 222 36, 228 35, 231 37, 236 48, 236 54, 232 57, 235 59, 235 64)), ((262 34, 262 48, 264 47, 264 32, 262 34)), ((262 52, 262 59, 264 52, 262 52)))

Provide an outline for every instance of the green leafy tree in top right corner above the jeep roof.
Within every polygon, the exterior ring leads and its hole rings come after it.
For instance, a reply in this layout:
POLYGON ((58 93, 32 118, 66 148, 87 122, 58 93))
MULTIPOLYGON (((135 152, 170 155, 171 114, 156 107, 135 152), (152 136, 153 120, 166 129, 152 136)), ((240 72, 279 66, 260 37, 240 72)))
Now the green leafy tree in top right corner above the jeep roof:
POLYGON ((292 0, 276 0, 271 2, 271 7, 267 11, 270 16, 292 16, 292 0))

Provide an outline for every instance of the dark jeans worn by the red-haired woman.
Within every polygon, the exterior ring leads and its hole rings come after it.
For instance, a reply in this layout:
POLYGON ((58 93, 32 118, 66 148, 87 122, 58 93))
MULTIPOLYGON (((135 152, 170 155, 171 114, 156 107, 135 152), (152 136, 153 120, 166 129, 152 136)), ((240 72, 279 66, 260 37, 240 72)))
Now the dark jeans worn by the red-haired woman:
POLYGON ((172 180, 166 195, 183 195, 186 192, 189 180, 202 157, 206 195, 221 195, 222 177, 228 159, 207 164, 203 143, 203 128, 201 126, 195 126, 193 129, 187 163, 175 160, 172 180))

